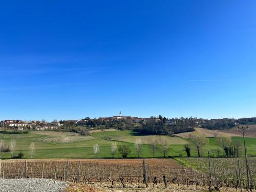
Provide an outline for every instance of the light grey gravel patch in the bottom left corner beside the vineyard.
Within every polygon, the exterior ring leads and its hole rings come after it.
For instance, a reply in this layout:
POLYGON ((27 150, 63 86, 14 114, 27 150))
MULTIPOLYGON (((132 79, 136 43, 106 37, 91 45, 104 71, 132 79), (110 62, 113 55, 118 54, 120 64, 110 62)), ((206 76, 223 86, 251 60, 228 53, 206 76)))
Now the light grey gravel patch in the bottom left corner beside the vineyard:
POLYGON ((1 192, 63 192, 67 186, 52 179, 0 179, 1 192))

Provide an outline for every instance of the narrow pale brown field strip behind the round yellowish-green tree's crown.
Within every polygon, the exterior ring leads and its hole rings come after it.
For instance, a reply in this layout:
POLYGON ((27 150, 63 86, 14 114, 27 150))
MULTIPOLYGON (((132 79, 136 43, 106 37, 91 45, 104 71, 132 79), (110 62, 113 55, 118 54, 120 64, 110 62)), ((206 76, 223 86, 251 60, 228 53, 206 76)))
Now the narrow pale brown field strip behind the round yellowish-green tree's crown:
MULTIPOLYGON (((197 132, 200 132, 200 133, 203 133, 206 137, 216 137, 216 136, 229 136, 229 137, 237 137, 237 136, 241 136, 241 133, 240 135, 236 135, 236 134, 233 134, 232 132, 224 132, 224 131, 217 131, 217 130, 207 130, 207 129, 203 129, 203 128, 195 128, 195 130, 197 132)), ((177 136, 179 137, 182 137, 182 138, 188 138, 188 135, 190 134, 191 132, 186 132, 186 133, 179 133, 179 134, 176 134, 177 136)))

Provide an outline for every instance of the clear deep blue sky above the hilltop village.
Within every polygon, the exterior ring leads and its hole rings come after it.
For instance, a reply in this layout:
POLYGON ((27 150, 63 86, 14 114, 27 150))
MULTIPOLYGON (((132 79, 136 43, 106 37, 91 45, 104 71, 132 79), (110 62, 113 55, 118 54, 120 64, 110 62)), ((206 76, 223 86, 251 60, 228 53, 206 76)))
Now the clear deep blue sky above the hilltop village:
POLYGON ((256 116, 255 1, 3 1, 0 119, 256 116))

